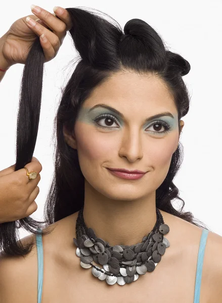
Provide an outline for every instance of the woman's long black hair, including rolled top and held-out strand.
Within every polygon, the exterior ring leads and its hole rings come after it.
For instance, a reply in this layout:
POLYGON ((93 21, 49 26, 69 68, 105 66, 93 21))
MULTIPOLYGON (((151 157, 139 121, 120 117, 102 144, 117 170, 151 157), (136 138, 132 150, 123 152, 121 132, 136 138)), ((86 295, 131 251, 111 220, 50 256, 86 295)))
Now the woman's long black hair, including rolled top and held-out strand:
MULTIPOLYGON (((18 228, 23 227, 32 234, 39 234, 38 228, 42 229, 59 221, 79 211, 84 205, 84 177, 79 166, 77 150, 65 142, 63 126, 72 132, 81 105, 97 85, 119 71, 151 74, 163 80, 173 97, 180 133, 180 120, 189 111, 190 95, 182 77, 189 73, 190 64, 179 54, 170 52, 160 35, 148 23, 141 19, 131 19, 122 31, 115 20, 107 14, 104 16, 108 16, 110 20, 103 18, 98 10, 98 14, 86 8, 66 10, 72 22, 68 34, 79 53, 79 58, 62 91, 54 121, 57 137, 55 172, 44 208, 45 221, 36 221, 29 216, 0 224, 0 248, 6 255, 24 257, 33 247, 32 243, 23 246, 17 241, 18 228)), ((30 48, 21 81, 15 171, 30 163, 33 156, 39 124, 44 60, 37 37, 30 48)), ((195 219, 191 212, 183 212, 184 200, 179 197, 179 189, 172 182, 182 160, 183 146, 179 141, 172 155, 167 176, 156 189, 156 207, 208 229, 195 219), (183 203, 179 211, 172 205, 176 198, 183 203)))

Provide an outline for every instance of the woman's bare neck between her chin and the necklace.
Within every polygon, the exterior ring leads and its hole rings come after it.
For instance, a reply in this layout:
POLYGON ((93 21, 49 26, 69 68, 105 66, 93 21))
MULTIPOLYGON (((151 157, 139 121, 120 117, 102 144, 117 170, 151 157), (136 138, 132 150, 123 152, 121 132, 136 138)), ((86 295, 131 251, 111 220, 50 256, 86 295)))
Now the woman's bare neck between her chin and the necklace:
POLYGON ((114 200, 85 185, 83 218, 98 238, 114 245, 133 245, 156 223, 156 193, 138 200, 114 200))

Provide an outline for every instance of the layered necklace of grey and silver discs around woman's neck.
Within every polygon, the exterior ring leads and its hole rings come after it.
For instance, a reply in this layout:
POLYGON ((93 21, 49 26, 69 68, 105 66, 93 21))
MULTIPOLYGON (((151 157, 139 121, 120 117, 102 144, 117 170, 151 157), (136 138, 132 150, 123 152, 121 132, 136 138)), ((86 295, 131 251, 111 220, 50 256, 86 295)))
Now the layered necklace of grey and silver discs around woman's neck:
POLYGON ((157 220, 152 231, 143 237, 142 242, 135 245, 110 246, 107 241, 98 238, 92 228, 87 228, 83 219, 83 207, 76 220, 76 255, 80 258, 80 266, 92 267, 92 274, 107 284, 119 285, 136 281, 140 275, 154 271, 169 241, 164 237, 169 226, 164 224, 163 217, 156 209, 157 220), (93 261, 102 268, 93 264, 93 261))

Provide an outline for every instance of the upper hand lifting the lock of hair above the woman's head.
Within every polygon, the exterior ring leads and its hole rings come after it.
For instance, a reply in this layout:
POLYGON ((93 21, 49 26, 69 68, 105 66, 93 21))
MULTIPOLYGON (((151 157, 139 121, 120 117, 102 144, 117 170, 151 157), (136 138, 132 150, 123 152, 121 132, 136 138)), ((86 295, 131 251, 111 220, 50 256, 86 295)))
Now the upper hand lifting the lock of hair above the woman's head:
MULTIPOLYGON (((40 37, 40 44, 45 55, 45 62, 56 57, 67 30, 71 28, 71 20, 68 11, 62 9, 62 14, 51 14, 39 8, 40 13, 32 12, 35 15, 28 15, 16 20, 8 32, 0 38, 0 62, 5 62, 0 68, 7 70, 16 63, 26 63, 29 49, 40 37), (32 23, 32 25, 31 25, 32 23)), ((38 8, 38 7, 36 7, 38 8)), ((59 10, 58 10, 59 13, 59 10)))

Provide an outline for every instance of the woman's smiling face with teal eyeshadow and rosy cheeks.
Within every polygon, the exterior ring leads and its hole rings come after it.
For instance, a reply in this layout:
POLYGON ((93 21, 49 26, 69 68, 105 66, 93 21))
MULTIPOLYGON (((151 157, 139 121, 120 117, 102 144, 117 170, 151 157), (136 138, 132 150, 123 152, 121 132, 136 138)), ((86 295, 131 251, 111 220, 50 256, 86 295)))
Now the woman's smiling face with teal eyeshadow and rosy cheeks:
POLYGON ((111 199, 135 200, 153 193, 167 175, 179 141, 177 110, 157 77, 119 72, 94 89, 80 109, 74 133, 64 135, 77 149, 86 182, 111 199), (127 180, 107 168, 148 173, 127 180))

